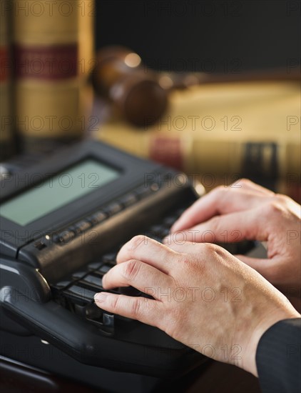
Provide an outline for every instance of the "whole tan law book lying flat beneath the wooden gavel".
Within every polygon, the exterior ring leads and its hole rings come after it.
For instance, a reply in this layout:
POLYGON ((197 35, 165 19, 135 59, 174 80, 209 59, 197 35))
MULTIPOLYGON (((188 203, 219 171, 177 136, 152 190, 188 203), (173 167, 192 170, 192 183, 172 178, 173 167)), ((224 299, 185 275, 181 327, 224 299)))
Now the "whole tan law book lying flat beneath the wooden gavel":
POLYGON ((300 184, 300 86, 197 86, 175 92, 170 110, 153 126, 138 129, 111 119, 97 136, 198 176, 205 186, 242 176, 270 179, 275 189, 284 179, 300 184))

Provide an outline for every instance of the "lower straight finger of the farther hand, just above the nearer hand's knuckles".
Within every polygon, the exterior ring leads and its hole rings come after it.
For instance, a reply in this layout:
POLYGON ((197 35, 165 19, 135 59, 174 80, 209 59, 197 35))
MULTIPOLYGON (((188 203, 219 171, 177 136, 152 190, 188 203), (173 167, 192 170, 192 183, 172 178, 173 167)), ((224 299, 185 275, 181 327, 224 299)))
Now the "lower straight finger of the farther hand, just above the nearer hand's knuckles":
POLYGON ((245 239, 267 240, 267 224, 262 222, 262 207, 213 217, 193 228, 170 234, 163 243, 168 246, 171 242, 233 243, 245 239))

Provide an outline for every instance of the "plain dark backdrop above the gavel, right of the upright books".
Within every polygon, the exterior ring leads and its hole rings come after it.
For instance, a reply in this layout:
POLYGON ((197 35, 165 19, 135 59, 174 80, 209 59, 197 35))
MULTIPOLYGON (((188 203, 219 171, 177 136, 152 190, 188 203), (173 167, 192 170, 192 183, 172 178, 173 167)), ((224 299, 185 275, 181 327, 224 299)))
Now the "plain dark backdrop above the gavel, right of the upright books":
POLYGON ((96 1, 96 49, 158 70, 238 73, 300 64, 300 1, 96 1))

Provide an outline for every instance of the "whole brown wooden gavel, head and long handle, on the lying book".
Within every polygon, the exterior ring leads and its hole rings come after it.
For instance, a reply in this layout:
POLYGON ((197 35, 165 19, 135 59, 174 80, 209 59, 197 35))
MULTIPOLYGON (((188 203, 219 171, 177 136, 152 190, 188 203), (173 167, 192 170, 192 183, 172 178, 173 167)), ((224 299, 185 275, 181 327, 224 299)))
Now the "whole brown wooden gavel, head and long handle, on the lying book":
POLYGON ((154 124, 168 107, 173 89, 197 84, 240 81, 297 80, 283 69, 248 71, 240 74, 206 74, 205 72, 158 72, 144 66, 141 57, 124 46, 107 46, 98 51, 91 74, 96 94, 108 100, 123 119, 135 126, 154 124))

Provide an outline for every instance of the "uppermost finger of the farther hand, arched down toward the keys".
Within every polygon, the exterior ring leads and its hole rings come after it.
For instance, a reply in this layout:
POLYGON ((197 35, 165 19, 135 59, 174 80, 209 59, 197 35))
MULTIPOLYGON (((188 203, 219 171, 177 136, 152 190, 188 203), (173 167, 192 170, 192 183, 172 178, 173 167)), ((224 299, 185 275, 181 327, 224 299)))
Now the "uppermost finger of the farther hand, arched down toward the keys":
POLYGON ((191 228, 195 224, 205 222, 219 214, 240 212, 257 207, 262 200, 262 194, 248 189, 216 187, 188 208, 180 219, 173 224, 170 232, 191 228))

